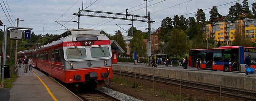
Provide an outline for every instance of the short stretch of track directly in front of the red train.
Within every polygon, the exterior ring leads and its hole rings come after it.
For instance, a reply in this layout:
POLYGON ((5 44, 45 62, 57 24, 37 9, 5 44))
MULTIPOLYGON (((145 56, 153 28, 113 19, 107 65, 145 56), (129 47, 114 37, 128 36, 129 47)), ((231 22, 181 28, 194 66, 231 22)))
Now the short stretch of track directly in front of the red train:
POLYGON ((98 91, 97 89, 89 92, 75 93, 75 94, 79 98, 83 99, 84 101, 121 101, 101 91, 98 91))

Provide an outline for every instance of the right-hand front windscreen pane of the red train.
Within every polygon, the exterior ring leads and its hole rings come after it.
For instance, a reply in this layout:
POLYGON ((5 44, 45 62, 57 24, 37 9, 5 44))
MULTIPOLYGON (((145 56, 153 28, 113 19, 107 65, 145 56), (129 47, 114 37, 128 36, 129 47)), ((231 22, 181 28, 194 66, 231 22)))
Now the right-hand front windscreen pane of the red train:
POLYGON ((99 46, 91 48, 92 58, 109 57, 109 48, 107 46, 99 46))

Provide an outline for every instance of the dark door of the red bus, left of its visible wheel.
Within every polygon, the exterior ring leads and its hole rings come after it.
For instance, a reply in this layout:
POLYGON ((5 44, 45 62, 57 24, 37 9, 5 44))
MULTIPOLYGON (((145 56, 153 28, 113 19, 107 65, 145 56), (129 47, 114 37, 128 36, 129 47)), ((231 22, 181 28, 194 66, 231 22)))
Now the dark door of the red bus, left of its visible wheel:
POLYGON ((213 52, 211 50, 206 51, 204 62, 206 64, 206 69, 213 69, 213 52))

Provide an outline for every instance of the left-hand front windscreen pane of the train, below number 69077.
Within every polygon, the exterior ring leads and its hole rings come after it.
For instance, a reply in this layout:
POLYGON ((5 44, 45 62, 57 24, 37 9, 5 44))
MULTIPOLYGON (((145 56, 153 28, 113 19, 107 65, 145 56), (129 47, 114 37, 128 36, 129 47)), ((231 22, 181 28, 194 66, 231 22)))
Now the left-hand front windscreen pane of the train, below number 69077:
POLYGON ((68 48, 66 49, 67 59, 85 59, 85 48, 68 48))

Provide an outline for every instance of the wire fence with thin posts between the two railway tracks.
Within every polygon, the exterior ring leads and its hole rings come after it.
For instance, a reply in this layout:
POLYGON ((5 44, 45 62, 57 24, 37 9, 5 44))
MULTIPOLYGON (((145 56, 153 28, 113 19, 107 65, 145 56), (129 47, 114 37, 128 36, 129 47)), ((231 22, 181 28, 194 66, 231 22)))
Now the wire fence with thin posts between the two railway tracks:
MULTIPOLYGON (((163 97, 171 101, 256 101, 256 91, 211 85, 187 81, 179 75, 179 79, 158 77, 155 75, 136 74, 113 70, 113 81, 119 84, 119 89, 130 89, 135 92, 150 92, 151 96, 163 97)), ((154 73, 155 74, 155 70, 154 73)))

